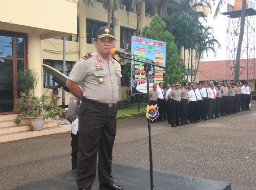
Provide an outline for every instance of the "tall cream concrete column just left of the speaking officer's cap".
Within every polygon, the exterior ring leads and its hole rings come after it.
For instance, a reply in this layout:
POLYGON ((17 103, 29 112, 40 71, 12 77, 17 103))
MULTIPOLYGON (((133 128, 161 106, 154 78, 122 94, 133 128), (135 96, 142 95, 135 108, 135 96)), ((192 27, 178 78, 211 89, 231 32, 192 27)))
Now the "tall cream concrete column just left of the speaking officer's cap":
POLYGON ((87 54, 86 48, 86 5, 82 0, 78 3, 79 16, 79 58, 87 54))

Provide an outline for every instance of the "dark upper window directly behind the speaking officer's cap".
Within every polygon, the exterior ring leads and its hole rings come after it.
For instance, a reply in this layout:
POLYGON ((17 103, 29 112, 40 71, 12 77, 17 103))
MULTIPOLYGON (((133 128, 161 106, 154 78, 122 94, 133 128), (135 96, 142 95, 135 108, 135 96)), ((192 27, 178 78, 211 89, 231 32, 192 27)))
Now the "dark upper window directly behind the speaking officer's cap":
MULTIPOLYGON (((86 38, 87 43, 93 44, 96 39, 97 30, 102 27, 107 26, 104 22, 95 22, 91 20, 86 20, 86 38)), ((110 28, 113 28, 113 25, 110 25, 110 28)))

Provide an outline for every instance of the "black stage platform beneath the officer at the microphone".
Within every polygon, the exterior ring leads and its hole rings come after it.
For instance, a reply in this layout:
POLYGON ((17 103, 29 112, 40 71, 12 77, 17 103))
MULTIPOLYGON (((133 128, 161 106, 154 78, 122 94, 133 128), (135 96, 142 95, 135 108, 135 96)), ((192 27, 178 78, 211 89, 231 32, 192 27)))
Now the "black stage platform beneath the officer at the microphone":
MULTIPOLYGON (((78 190, 76 173, 77 170, 70 170, 56 176, 17 186, 11 190, 78 190)), ((114 181, 122 185, 124 190, 150 190, 149 169, 112 164, 112 174, 114 181)), ((156 190, 231 190, 231 184, 227 182, 159 171, 153 171, 153 181, 156 190)), ((98 177, 92 185, 92 190, 99 190, 98 177)))

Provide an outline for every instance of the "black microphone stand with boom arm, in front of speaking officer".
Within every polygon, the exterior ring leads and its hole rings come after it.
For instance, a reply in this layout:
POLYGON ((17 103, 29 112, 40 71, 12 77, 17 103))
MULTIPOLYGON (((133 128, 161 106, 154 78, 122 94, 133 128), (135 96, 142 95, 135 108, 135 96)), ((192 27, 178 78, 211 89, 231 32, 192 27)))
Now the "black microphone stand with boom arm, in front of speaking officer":
MULTIPOLYGON (((133 55, 132 55, 133 56, 133 55)), ((147 93, 148 93, 148 105, 149 105, 149 79, 148 79, 148 72, 151 70, 151 66, 157 66, 160 68, 166 68, 165 66, 160 66, 157 64, 154 64, 152 62, 148 62, 141 59, 134 59, 134 58, 128 58, 121 54, 118 55, 119 58, 129 59, 136 62, 144 63, 144 71, 146 73, 146 84, 147 84, 147 93)), ((154 189, 153 184, 153 159, 152 159, 152 145, 151 145, 151 125, 150 120, 148 119, 148 140, 149 140, 149 168, 150 168, 150 190, 154 189)))

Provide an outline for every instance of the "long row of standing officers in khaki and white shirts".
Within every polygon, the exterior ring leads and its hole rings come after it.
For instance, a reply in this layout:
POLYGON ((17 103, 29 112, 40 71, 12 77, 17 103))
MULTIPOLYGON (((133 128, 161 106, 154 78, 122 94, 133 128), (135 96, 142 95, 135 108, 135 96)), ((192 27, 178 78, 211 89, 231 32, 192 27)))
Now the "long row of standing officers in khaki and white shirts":
POLYGON ((149 105, 158 106, 158 118, 152 123, 168 120, 172 127, 197 123, 248 111, 251 100, 250 83, 223 85, 219 83, 163 83, 153 85, 149 92, 149 105))

